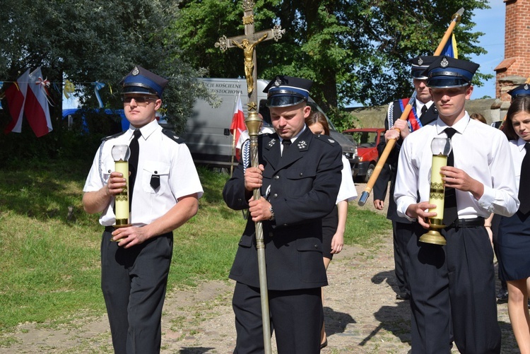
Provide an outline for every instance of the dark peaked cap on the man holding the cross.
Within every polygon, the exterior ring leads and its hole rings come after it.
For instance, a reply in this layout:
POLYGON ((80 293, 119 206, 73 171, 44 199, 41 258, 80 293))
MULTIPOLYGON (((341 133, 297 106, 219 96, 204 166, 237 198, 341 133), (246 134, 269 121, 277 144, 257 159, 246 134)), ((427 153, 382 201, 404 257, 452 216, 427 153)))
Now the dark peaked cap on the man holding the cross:
POLYGON ((267 94, 267 107, 289 107, 307 102, 313 81, 305 78, 278 75, 263 90, 267 94))

